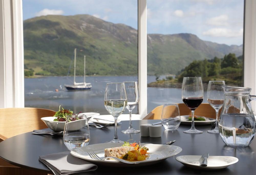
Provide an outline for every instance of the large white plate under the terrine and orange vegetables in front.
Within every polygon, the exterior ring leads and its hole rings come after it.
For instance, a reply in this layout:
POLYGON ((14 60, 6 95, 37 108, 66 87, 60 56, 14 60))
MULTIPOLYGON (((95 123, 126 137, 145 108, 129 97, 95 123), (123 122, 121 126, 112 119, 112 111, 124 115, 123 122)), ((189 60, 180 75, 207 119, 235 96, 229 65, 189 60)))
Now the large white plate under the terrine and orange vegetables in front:
POLYGON ((95 144, 95 145, 88 145, 85 147, 75 148, 70 153, 71 155, 87 160, 88 162, 95 163, 97 165, 104 165, 104 166, 118 166, 118 167, 128 167, 128 166, 146 166, 158 163, 162 160, 165 160, 169 157, 172 157, 182 151, 182 148, 173 145, 157 145, 157 144, 141 144, 141 146, 147 147, 148 150, 148 157, 146 160, 140 161, 138 164, 127 164, 122 163, 116 160, 97 160, 92 159, 88 155, 88 151, 93 151, 99 157, 104 157, 104 149, 105 148, 113 148, 122 146, 122 143, 102 143, 102 144, 95 144))

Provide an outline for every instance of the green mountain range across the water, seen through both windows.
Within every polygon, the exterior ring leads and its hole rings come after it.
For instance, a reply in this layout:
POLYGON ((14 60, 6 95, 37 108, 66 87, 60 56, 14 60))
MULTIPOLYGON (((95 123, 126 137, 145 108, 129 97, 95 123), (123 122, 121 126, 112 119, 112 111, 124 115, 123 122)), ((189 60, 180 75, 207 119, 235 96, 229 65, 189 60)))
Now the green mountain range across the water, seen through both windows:
MULTIPOLYGON (((73 50, 77 48, 77 74, 83 74, 86 55, 88 75, 135 75, 137 30, 91 15, 48 15, 24 21, 24 67, 38 75, 67 75, 73 71, 73 50)), ((193 34, 148 34, 149 74, 175 74, 193 60, 212 59, 236 51, 228 46, 203 41, 193 34)))

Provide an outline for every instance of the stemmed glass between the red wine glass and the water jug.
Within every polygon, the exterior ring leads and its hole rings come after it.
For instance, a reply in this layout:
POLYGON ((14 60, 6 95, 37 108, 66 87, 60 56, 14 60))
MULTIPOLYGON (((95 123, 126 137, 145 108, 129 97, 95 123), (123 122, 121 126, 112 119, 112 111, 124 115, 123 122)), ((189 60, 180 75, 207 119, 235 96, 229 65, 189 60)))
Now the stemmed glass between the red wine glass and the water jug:
POLYGON ((209 81, 207 89, 207 101, 216 111, 216 126, 213 130, 208 130, 208 133, 219 134, 218 113, 224 102, 225 81, 209 81))

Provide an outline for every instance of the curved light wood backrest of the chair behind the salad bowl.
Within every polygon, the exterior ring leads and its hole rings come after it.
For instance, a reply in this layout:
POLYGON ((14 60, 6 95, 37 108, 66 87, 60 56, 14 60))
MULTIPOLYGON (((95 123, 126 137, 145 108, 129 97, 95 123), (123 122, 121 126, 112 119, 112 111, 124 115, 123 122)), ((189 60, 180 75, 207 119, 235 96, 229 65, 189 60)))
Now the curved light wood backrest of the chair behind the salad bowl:
POLYGON ((54 116, 55 111, 41 108, 1 108, 0 139, 47 128, 41 117, 54 116))

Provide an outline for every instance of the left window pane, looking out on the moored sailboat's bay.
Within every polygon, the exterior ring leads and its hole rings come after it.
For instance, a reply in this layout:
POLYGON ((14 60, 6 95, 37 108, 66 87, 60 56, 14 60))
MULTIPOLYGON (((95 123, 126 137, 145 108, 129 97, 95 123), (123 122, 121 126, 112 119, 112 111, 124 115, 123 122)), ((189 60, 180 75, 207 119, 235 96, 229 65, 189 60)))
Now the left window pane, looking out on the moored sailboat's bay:
POLYGON ((23 17, 26 107, 109 114, 106 83, 138 80, 137 0, 23 0, 23 17), (84 82, 86 56, 91 90, 65 88, 75 48, 75 82, 84 82))

